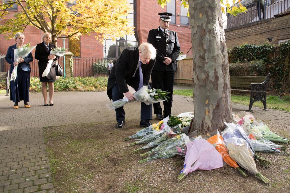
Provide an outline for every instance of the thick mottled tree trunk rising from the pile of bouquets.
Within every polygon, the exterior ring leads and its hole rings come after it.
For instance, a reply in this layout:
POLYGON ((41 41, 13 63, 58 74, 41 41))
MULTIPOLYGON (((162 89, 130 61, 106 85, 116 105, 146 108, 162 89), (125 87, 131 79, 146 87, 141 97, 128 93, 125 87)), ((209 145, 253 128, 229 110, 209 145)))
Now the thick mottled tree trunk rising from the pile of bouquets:
POLYGON ((220 0, 188 0, 193 51, 190 131, 216 134, 232 120, 230 75, 220 0))

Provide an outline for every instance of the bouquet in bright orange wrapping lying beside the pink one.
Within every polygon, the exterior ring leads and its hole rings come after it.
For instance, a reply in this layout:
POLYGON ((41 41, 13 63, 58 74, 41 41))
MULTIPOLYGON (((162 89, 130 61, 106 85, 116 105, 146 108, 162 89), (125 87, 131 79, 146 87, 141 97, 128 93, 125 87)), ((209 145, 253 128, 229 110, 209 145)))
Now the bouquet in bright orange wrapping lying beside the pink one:
POLYGON ((218 131, 216 135, 208 138, 207 141, 218 150, 227 165, 237 169, 244 177, 247 177, 247 174, 238 166, 237 162, 230 157, 226 144, 218 131))

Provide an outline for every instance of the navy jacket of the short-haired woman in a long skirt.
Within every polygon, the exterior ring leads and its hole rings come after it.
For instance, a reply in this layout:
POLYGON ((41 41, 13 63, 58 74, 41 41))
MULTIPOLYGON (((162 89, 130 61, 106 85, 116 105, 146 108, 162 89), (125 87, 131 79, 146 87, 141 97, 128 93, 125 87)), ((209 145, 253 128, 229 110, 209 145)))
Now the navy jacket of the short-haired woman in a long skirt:
MULTIPOLYGON (((9 46, 6 56, 5 56, 5 60, 11 65, 10 66, 10 73, 12 72, 12 70, 14 69, 14 49, 17 49, 16 44, 14 44, 13 46, 9 46)), ((33 57, 31 52, 28 54, 27 57, 24 58, 24 62, 21 62, 18 64, 17 67, 17 71, 20 71, 21 69, 23 71, 27 71, 27 72, 31 72, 31 67, 29 62, 33 61, 33 57)))

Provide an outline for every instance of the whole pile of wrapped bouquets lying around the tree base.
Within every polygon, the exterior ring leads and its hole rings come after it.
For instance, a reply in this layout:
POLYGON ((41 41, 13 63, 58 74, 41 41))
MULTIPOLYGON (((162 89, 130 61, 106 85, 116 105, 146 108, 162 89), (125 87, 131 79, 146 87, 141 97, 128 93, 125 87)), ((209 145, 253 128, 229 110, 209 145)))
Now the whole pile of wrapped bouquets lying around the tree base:
POLYGON ((255 175, 262 182, 269 184, 269 179, 256 169, 256 162, 264 167, 269 167, 272 162, 258 156, 255 152, 284 153, 286 147, 278 143, 290 143, 272 131, 267 125, 256 122, 253 115, 247 114, 243 118, 234 115, 234 123, 225 123, 227 128, 220 134, 204 138, 188 138, 182 129, 193 118, 190 113, 182 113, 178 116, 166 117, 162 121, 152 124, 138 131, 136 134, 125 138, 125 141, 134 139, 132 146, 143 144, 132 153, 147 150, 140 157, 147 158, 139 163, 156 159, 167 159, 174 156, 185 157, 184 166, 178 180, 182 180, 188 173, 197 169, 211 170, 223 166, 223 161, 237 169, 242 176, 247 177, 246 171, 255 175))

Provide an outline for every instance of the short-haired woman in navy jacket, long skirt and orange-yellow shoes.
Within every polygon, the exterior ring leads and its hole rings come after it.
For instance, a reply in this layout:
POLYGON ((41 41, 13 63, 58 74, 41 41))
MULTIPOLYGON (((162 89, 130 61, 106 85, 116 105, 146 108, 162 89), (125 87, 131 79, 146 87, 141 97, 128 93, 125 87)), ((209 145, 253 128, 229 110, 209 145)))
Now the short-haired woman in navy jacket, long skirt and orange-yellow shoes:
POLYGON ((17 67, 17 77, 15 81, 10 81, 10 100, 14 102, 14 109, 18 109, 18 103, 23 100, 24 106, 30 108, 31 106, 27 103, 29 102, 29 87, 30 87, 30 72, 31 67, 29 62, 32 62, 32 54, 29 53, 27 57, 19 59, 19 61, 14 61, 14 49, 17 47, 22 47, 24 43, 24 34, 16 33, 15 34, 16 44, 9 46, 7 54, 5 56, 6 61, 11 65, 10 74, 15 66, 17 67))

